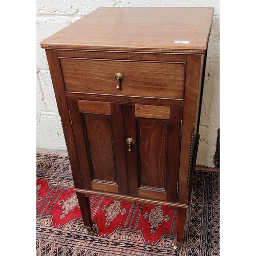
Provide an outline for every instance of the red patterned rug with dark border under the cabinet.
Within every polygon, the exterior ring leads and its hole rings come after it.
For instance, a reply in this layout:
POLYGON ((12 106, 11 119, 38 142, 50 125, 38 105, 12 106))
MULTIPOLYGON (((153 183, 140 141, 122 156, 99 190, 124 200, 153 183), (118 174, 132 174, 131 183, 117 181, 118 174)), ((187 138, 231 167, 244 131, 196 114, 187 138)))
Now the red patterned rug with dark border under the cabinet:
MULTIPOLYGON (((95 236, 83 227, 67 156, 37 154, 37 256, 177 255, 176 211, 92 195, 95 236)), ((196 172, 178 255, 219 255, 219 174, 196 172)))

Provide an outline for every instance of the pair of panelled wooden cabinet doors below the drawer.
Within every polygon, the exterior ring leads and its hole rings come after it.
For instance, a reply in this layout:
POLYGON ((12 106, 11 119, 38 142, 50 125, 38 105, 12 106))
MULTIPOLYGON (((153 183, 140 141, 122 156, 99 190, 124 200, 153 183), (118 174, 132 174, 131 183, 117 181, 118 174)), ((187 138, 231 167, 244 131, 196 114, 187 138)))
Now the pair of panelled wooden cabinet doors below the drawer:
POLYGON ((177 201, 182 108, 67 101, 85 188, 177 201))

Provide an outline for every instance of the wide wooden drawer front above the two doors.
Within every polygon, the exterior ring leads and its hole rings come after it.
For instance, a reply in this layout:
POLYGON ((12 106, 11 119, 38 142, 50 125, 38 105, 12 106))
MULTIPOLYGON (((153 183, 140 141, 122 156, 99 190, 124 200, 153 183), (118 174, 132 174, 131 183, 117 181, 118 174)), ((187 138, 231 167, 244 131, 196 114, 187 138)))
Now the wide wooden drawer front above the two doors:
POLYGON ((183 99, 185 63, 60 58, 67 92, 183 99), (122 73, 120 90, 116 73, 122 73))

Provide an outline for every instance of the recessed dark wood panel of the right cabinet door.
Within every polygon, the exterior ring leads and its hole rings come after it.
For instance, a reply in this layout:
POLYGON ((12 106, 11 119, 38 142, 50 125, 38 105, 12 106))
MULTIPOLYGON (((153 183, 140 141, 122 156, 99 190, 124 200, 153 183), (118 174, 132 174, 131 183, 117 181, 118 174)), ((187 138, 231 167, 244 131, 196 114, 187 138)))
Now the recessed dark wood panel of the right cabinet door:
POLYGON ((165 188, 167 121, 139 118, 141 185, 165 188))

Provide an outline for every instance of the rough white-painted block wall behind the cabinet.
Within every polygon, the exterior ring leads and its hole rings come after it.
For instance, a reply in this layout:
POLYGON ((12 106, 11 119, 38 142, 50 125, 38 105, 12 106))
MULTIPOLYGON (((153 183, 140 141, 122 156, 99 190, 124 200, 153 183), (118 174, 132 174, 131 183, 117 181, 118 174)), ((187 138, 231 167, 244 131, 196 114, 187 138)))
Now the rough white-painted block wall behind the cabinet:
POLYGON ((202 113, 201 140, 197 164, 215 167, 217 131, 219 129, 219 25, 218 0, 37 0, 37 148, 66 151, 45 51, 39 42, 67 27, 98 7, 214 7, 214 21, 209 40, 202 113))

